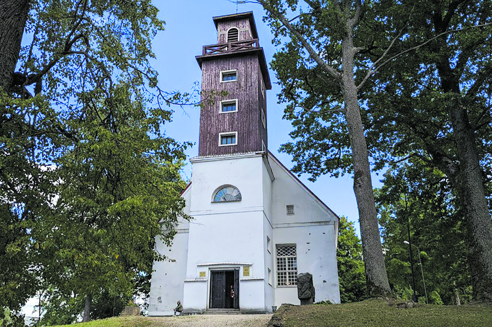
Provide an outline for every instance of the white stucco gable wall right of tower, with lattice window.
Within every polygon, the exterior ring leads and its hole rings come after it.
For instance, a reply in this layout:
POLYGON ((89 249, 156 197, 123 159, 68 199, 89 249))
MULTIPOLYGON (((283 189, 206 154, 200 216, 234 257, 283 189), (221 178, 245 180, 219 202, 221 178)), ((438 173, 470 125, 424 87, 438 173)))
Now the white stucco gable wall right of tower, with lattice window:
MULTIPOLYGON (((272 196, 273 255, 277 244, 296 244, 297 271, 298 274, 309 272, 313 275, 315 301, 339 303, 336 258, 338 218, 275 158, 269 162, 275 176, 272 196), (286 205, 289 204, 294 205, 294 215, 287 215, 286 205)), ((274 276, 277 276, 277 270, 274 276)), ((297 287, 277 287, 276 281, 274 285, 276 306, 282 303, 300 304, 297 287)))

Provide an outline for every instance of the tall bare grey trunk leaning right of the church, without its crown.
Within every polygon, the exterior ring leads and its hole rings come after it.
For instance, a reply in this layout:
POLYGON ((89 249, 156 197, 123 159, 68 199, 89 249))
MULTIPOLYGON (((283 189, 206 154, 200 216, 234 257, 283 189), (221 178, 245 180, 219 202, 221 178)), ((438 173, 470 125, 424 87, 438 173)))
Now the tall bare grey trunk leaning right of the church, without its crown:
POLYGON ((352 37, 349 35, 342 43, 343 71, 341 88, 345 105, 345 119, 350 136, 350 147, 352 149, 354 193, 359 210, 367 293, 370 297, 386 297, 391 296, 391 288, 384 263, 376 205, 374 194, 372 193, 369 153, 362 125, 361 108, 357 98, 357 87, 354 83, 354 52, 352 37))

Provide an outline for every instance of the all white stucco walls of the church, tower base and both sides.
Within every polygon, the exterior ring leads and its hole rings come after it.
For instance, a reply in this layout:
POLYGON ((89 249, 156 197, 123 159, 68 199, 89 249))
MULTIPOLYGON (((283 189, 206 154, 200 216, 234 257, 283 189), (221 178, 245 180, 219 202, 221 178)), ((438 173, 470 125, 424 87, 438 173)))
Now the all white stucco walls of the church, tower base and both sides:
POLYGON ((186 259, 180 259, 178 265, 155 263, 159 273, 153 276, 150 315, 170 312, 180 296, 185 311, 206 310, 210 305, 210 271, 214 269, 239 269, 242 311, 271 312, 274 305, 299 304, 297 287, 277 287, 277 244, 296 244, 298 273, 313 274, 316 301, 339 303, 338 218, 329 208, 273 157, 265 161, 261 154, 247 154, 191 161, 192 186, 184 197, 186 211, 193 220, 187 233, 177 235, 176 249, 173 247, 170 252, 174 255, 173 251, 176 251, 177 257, 185 255, 186 259), (274 181, 268 167, 271 167, 274 181), (212 202, 214 191, 223 185, 237 187, 242 200, 212 202), (294 205, 294 215, 286 214, 287 204, 294 205), (183 261, 186 262, 184 266, 181 265, 183 261), (245 265, 249 266, 249 276, 243 276, 245 265), (175 273, 169 277, 165 271, 175 273), (163 288, 167 291, 163 292, 163 288), (158 302, 157 295, 162 300, 162 294, 172 301, 158 302))

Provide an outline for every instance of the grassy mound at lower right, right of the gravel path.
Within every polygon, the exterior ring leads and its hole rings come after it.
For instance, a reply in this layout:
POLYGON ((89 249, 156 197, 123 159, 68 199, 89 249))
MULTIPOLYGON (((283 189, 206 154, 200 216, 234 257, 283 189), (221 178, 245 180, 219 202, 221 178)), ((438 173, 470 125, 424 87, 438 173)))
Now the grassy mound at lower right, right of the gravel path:
POLYGON ((491 327, 490 305, 420 305, 410 309, 382 300, 293 306, 282 313, 284 327, 491 327))

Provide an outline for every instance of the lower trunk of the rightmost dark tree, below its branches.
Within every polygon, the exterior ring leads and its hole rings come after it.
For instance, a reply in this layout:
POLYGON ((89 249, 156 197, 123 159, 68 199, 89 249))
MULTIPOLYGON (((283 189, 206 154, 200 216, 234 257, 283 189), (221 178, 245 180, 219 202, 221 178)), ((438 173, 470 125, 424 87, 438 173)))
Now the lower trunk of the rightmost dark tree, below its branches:
POLYGON ((451 123, 460 159, 458 191, 468 224, 473 300, 492 301, 492 223, 482 181, 473 128, 459 101, 450 105, 451 123))

